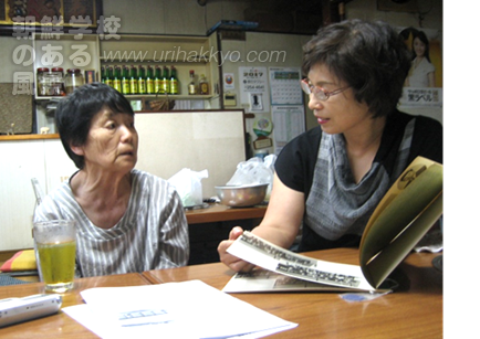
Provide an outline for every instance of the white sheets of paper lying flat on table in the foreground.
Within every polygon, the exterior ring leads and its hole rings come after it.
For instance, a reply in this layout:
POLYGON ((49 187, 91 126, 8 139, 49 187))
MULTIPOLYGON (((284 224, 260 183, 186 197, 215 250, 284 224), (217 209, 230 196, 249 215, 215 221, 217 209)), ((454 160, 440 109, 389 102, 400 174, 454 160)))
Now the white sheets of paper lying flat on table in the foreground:
POLYGON ((101 338, 262 338, 295 328, 199 282, 98 287, 63 309, 101 338))

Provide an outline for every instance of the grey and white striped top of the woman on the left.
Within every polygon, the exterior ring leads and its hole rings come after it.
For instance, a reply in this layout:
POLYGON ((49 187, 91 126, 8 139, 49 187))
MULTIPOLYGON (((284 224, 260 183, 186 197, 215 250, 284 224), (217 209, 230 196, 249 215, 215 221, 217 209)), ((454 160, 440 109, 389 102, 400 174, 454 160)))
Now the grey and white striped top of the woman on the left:
POLYGON ((185 266, 188 224, 181 200, 165 180, 133 170, 132 195, 114 227, 95 226, 63 183, 43 200, 35 221, 77 222, 76 276, 101 276, 185 266))

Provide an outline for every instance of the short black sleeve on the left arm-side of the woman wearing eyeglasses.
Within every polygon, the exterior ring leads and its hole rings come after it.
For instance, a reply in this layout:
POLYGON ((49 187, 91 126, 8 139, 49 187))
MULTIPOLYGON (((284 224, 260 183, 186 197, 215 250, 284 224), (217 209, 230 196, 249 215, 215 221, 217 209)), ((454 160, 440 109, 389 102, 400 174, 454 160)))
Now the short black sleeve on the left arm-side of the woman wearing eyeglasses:
POLYGON ((280 152, 275 171, 280 180, 292 190, 309 197, 319 156, 322 129, 314 128, 290 141, 280 152))

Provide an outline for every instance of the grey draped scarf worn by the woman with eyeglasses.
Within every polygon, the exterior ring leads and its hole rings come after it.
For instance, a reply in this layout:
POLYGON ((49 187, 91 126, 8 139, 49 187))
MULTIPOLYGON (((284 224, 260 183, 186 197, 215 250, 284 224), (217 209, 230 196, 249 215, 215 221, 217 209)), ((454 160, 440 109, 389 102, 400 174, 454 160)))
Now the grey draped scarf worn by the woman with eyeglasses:
MULTIPOLYGON (((415 119, 408 124, 398 151, 394 167, 394 173, 398 176, 408 166, 414 128, 415 119)), ((315 233, 330 241, 345 234, 362 235, 390 186, 390 176, 379 162, 374 162, 371 171, 356 184, 343 135, 323 134, 313 184, 306 200, 305 222, 315 233), (321 205, 335 208, 319 208, 321 205)))

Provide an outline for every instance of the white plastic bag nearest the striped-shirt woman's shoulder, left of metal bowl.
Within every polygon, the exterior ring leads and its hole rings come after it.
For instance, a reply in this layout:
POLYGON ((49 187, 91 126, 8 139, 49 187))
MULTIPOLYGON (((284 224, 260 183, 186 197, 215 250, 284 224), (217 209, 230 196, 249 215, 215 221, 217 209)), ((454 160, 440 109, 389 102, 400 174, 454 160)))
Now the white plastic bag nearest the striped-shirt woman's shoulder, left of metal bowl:
POLYGON ((191 208, 204 203, 201 179, 208 178, 208 170, 200 172, 184 168, 174 174, 168 182, 175 186, 185 208, 191 208))

